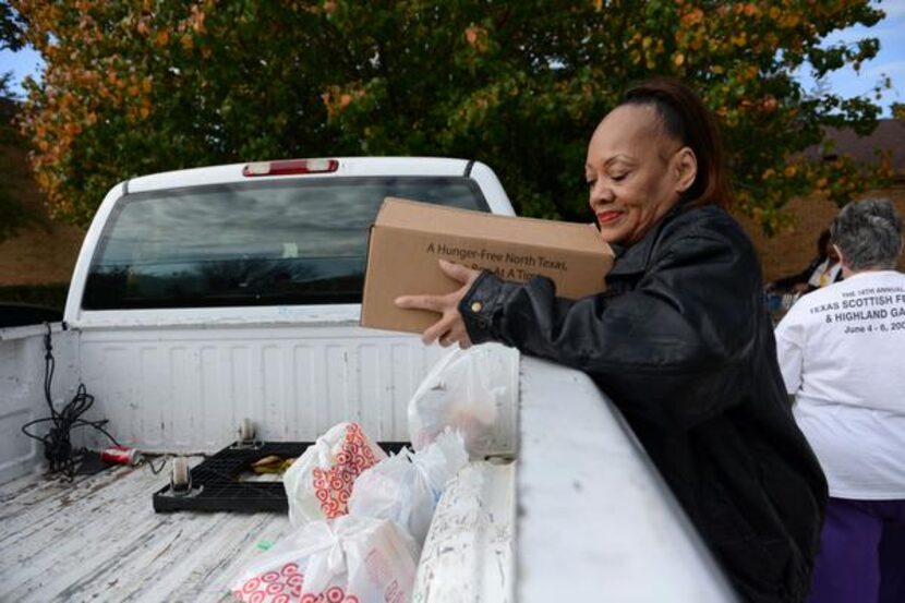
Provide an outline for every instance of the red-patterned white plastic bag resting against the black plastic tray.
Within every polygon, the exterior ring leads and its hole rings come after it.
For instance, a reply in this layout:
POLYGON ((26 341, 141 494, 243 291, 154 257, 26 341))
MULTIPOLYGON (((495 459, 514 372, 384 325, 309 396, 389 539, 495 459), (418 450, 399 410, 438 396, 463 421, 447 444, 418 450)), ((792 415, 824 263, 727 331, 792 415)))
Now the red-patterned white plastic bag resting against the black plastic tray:
POLYGON ((346 515, 355 479, 385 458, 357 423, 330 427, 282 477, 290 523, 298 528, 346 515))

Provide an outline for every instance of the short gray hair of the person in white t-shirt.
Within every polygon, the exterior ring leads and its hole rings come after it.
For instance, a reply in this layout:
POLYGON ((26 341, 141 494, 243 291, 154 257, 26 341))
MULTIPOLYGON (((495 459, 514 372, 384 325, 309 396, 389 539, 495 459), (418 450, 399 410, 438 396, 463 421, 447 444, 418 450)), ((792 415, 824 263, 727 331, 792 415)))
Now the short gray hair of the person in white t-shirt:
POLYGON ((830 236, 856 273, 893 269, 902 253, 902 218, 888 198, 849 203, 833 219, 830 236))

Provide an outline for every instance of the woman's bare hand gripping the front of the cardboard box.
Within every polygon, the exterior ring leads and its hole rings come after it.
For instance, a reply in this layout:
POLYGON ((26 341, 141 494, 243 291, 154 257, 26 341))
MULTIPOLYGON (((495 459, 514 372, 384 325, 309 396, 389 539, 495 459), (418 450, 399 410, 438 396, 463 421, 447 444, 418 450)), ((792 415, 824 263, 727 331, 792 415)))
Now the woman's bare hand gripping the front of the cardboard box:
POLYGON ((446 260, 439 261, 439 267, 448 277, 461 282, 462 287, 446 296, 402 296, 396 298, 396 305, 407 310, 427 310, 441 315, 439 321, 421 334, 421 340, 425 346, 438 340, 444 348, 454 343, 459 343, 462 349, 470 348, 471 339, 459 313, 459 302, 481 273, 446 260))

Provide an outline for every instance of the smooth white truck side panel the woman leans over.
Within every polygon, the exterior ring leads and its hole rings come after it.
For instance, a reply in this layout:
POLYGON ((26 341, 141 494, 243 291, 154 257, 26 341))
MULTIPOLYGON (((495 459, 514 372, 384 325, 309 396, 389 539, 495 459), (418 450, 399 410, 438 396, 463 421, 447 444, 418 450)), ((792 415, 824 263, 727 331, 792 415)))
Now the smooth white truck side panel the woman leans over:
POLYGON ((519 603, 735 601, 644 450, 587 375, 521 361, 519 603))

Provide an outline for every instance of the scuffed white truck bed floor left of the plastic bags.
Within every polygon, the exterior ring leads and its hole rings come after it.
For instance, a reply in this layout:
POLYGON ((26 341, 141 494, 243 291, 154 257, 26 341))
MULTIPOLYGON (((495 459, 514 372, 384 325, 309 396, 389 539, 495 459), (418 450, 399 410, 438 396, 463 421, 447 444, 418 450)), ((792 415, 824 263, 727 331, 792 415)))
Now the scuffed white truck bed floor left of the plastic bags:
POLYGON ((145 465, 0 486, 0 601, 232 601, 230 580, 288 517, 156 514, 168 480, 145 465))

